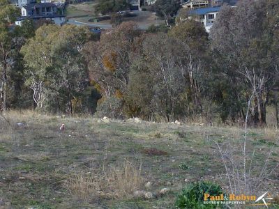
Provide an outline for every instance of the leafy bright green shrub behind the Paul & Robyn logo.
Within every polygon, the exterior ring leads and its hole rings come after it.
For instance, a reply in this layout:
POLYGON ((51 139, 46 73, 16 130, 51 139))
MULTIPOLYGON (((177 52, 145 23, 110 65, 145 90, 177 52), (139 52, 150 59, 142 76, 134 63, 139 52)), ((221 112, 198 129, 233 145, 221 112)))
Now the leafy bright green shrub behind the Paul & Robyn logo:
MULTIPOLYGON (((204 193, 211 195, 222 194, 222 189, 219 185, 209 182, 192 183, 182 189, 182 193, 176 199, 176 208, 217 208, 216 205, 204 205, 204 193)), ((219 206, 220 207, 220 206, 219 206)))

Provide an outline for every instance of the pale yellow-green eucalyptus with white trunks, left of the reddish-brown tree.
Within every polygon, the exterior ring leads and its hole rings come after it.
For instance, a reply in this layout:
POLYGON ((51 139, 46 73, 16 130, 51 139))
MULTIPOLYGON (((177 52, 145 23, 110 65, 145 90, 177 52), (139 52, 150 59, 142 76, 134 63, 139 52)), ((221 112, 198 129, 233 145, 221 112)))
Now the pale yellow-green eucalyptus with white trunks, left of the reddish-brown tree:
POLYGON ((88 82, 82 49, 93 38, 86 27, 45 25, 22 47, 26 84, 37 107, 47 102, 56 110, 73 112, 73 100, 88 82))

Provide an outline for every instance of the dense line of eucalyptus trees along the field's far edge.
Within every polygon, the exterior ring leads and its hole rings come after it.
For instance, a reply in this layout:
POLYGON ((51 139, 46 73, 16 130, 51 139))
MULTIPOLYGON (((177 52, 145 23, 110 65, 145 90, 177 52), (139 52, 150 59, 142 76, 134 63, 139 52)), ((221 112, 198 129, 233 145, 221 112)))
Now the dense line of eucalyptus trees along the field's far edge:
POLYGON ((210 34, 187 20, 165 32, 123 22, 100 37, 28 20, 10 29, 16 11, 0 2, 3 111, 236 123, 248 109, 264 125, 267 105, 278 110, 277 0, 223 6, 210 34))

